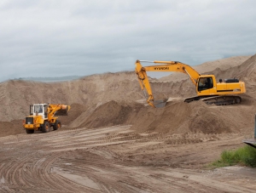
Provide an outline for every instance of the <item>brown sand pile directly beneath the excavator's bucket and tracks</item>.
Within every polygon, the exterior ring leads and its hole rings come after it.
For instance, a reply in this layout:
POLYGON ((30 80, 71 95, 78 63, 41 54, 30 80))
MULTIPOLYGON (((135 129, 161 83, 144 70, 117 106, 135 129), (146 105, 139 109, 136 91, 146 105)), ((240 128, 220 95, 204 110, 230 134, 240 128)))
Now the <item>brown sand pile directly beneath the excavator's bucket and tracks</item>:
POLYGON ((253 122, 256 103, 249 99, 247 105, 215 106, 195 101, 175 102, 163 109, 144 108, 132 128, 162 133, 236 133, 253 122))

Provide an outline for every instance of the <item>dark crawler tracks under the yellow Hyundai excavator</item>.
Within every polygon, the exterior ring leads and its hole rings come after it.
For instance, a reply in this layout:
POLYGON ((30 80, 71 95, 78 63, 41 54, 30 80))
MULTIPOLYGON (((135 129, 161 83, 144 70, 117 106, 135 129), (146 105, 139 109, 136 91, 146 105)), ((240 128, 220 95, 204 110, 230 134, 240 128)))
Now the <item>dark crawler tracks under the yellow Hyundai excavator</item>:
POLYGON ((241 97, 235 95, 224 95, 224 96, 195 96, 185 99, 184 102, 192 102, 194 100, 201 100, 207 105, 233 105, 240 104, 241 97))

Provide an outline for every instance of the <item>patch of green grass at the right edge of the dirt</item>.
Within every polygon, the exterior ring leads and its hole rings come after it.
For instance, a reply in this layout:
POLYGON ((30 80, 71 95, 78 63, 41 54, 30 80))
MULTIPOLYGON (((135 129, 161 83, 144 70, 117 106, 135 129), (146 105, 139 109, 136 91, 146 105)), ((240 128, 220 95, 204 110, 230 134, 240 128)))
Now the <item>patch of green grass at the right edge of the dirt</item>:
POLYGON ((245 145, 237 150, 224 150, 221 158, 210 164, 210 167, 226 167, 233 165, 256 167, 256 149, 245 145))

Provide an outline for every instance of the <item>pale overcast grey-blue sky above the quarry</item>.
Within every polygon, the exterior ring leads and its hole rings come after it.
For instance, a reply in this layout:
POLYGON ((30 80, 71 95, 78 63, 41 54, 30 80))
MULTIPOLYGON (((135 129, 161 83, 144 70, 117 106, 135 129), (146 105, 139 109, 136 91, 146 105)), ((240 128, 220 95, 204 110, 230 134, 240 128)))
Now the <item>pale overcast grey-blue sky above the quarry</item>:
POLYGON ((256 54, 254 0, 1 0, 0 82, 256 54))

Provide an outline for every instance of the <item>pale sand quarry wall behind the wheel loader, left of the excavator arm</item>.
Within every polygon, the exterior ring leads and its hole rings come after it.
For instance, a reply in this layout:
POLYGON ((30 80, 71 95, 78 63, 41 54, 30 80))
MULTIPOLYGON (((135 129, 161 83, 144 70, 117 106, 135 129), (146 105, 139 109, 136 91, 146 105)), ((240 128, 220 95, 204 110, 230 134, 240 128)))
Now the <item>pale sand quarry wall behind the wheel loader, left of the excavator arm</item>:
POLYGON ((34 103, 79 104, 86 108, 110 100, 141 99, 134 72, 106 73, 68 82, 12 80, 0 83, 0 117, 4 122, 20 119, 34 103))

